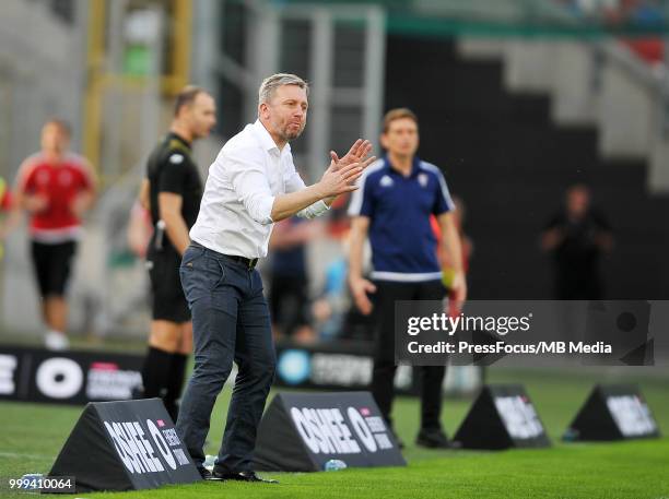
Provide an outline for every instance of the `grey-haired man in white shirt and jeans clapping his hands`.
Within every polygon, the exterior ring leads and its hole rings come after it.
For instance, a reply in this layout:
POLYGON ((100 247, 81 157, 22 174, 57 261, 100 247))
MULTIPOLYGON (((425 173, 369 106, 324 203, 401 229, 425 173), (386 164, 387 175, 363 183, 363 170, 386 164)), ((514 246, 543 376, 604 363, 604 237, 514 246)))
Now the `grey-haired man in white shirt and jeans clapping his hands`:
POLYGON ((267 256, 275 222, 327 212, 332 200, 356 189, 374 157, 359 140, 306 187, 293 165, 289 141, 306 124, 307 84, 274 74, 260 85, 258 120, 233 136, 209 169, 191 246, 181 261, 181 284, 192 313, 195 369, 181 401, 177 432, 206 479, 273 482, 253 466, 256 432, 275 367, 270 317, 255 270, 267 256), (233 360, 239 369, 213 472, 202 447, 211 412, 233 360))

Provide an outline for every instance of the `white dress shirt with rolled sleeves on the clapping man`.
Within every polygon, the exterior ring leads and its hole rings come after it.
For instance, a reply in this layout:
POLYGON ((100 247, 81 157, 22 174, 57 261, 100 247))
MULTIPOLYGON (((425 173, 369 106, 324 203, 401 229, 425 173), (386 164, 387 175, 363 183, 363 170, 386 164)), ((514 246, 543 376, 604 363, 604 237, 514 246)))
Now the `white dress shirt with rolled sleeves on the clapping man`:
MULTIPOLYGON (((224 254, 267 257, 274 199, 305 187, 290 144, 280 151, 259 120, 247 124, 209 167, 190 239, 224 254)), ((328 205, 318 201, 297 215, 313 218, 327 211, 328 205)))

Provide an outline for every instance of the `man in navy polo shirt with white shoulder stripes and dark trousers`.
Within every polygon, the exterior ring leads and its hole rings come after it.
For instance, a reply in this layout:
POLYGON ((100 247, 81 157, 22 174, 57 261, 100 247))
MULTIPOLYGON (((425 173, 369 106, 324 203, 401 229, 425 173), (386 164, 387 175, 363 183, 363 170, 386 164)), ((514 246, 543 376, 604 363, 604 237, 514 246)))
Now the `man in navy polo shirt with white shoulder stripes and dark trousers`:
MULTIPOLYGON (((380 143, 387 154, 369 165, 353 193, 349 214, 351 243, 349 284, 362 313, 372 312, 374 295, 376 348, 372 394, 386 423, 392 427, 395 301, 441 300, 439 260, 455 270, 453 298, 458 305, 467 296, 462 273, 460 237, 454 221, 455 204, 442 171, 415 156, 419 128, 415 115, 406 108, 392 109, 384 118, 380 143), (442 229, 441 251, 430 224, 434 215, 442 229), (362 276, 365 238, 372 246, 372 282, 362 276)), ((442 429, 442 383, 445 366, 423 366, 421 389, 421 429, 416 443, 426 448, 447 448, 442 429)), ((401 441, 398 439, 398 442, 401 441)))

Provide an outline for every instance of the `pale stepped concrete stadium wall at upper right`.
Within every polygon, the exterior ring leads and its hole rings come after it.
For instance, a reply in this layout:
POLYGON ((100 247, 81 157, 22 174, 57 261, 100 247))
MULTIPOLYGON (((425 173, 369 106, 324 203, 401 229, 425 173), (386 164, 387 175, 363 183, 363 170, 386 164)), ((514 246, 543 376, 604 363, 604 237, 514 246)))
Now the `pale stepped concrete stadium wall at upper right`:
POLYGON ((647 161, 649 192, 669 192, 669 133, 656 76, 615 41, 600 50, 568 40, 459 43, 466 58, 502 59, 508 90, 549 94, 555 123, 596 127, 603 158, 647 161))

